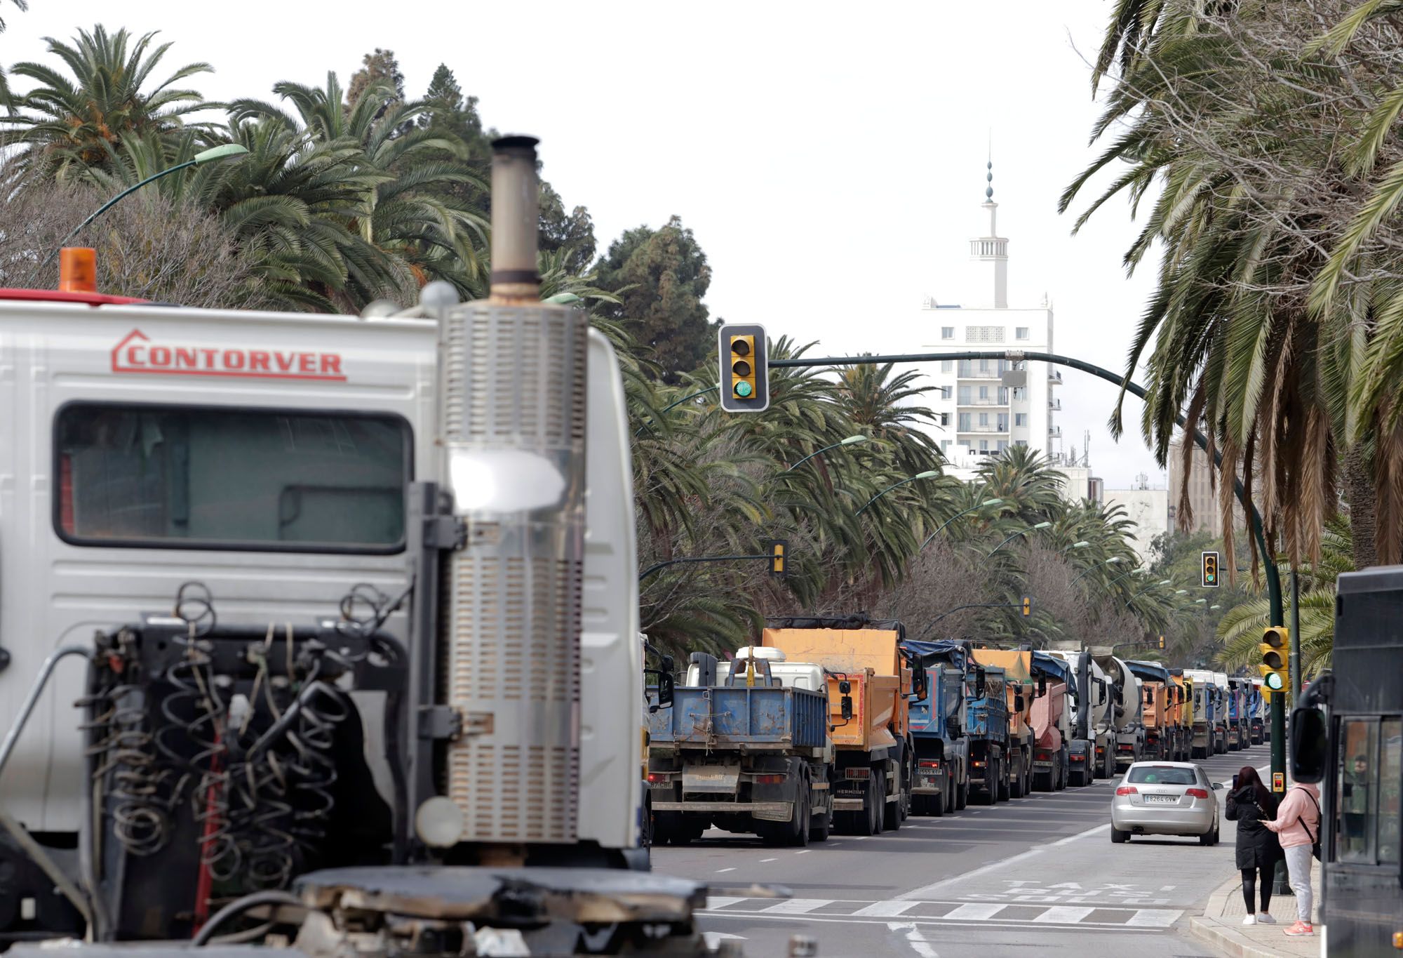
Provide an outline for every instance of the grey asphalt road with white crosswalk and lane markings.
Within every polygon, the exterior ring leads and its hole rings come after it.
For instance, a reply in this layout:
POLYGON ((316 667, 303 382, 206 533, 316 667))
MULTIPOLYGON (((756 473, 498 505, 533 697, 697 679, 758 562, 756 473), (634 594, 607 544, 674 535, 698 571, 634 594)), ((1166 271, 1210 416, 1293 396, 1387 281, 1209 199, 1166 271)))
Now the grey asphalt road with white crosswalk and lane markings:
MULTIPOLYGON (((1270 760, 1261 744, 1200 764, 1228 782, 1270 760)), ((685 848, 654 848, 652 868, 710 882, 703 931, 739 940, 748 955, 784 955, 796 933, 818 938, 824 958, 1215 955, 1190 940, 1188 916, 1236 874, 1235 825, 1223 819, 1212 848, 1197 839, 1113 846, 1117 781, 912 816, 897 833, 835 834, 804 850, 713 830, 685 848), (752 884, 793 898, 755 898, 752 884)))

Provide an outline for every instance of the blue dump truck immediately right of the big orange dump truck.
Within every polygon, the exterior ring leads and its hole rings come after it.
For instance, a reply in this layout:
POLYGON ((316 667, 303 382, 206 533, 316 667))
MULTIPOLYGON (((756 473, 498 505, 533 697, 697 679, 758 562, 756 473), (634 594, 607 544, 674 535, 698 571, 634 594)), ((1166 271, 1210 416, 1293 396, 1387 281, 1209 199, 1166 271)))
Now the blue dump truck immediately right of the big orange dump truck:
POLYGON ((902 642, 913 667, 926 670, 926 694, 911 702, 916 780, 915 815, 944 815, 969 799, 969 737, 965 735, 968 653, 958 642, 902 642))

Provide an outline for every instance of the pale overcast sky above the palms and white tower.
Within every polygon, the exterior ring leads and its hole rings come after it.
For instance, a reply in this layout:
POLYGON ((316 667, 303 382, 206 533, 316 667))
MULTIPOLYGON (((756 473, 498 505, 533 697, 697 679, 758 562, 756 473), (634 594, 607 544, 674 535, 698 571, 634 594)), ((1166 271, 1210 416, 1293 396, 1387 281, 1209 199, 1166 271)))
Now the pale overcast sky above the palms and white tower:
MULTIPOLYGON (((194 84, 213 100, 327 70, 347 81, 375 46, 396 52, 414 97, 448 63, 485 124, 542 138, 546 177, 589 208, 600 249, 678 214, 714 271, 713 316, 821 354, 915 347, 922 298, 961 299, 992 136, 1009 305, 1045 292, 1056 351, 1121 371, 1152 278, 1120 265, 1135 225, 1114 202, 1072 237, 1056 212, 1093 156, 1086 59, 1110 6, 29 0, 4 6, 0 60, 42 59, 43 37, 101 22, 160 29, 174 42, 163 66, 210 62, 194 84)), ((1063 376, 1063 441, 1090 430, 1108 489, 1139 472, 1163 483, 1138 400, 1115 445, 1115 389, 1063 376)))

